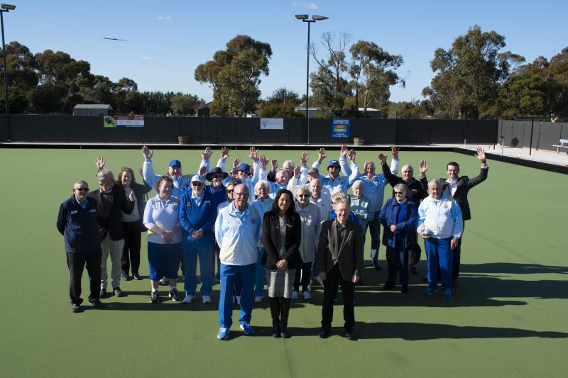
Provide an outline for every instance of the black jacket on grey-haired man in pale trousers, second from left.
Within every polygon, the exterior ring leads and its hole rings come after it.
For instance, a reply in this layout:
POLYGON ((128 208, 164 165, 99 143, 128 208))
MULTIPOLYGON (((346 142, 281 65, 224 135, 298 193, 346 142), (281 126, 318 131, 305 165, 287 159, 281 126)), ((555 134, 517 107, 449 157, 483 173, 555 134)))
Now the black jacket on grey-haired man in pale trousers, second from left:
POLYGON ((89 197, 97 200, 97 223, 101 238, 110 235, 111 240, 124 239, 122 212, 130 214, 134 209, 134 202, 126 198, 124 188, 116 183, 109 196, 104 196, 107 199, 102 199, 100 189, 91 191, 89 197))

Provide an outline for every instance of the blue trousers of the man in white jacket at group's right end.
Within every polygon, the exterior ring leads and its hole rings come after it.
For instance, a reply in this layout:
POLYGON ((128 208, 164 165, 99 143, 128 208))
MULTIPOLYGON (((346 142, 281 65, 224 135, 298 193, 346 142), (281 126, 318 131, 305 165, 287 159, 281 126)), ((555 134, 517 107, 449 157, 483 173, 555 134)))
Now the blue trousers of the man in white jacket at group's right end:
POLYGON ((424 246, 426 249, 427 261, 427 277, 428 287, 436 289, 437 282, 437 263, 439 262, 439 269, 442 276, 442 289, 452 288, 452 260, 454 252, 450 248, 452 238, 425 239, 424 246))

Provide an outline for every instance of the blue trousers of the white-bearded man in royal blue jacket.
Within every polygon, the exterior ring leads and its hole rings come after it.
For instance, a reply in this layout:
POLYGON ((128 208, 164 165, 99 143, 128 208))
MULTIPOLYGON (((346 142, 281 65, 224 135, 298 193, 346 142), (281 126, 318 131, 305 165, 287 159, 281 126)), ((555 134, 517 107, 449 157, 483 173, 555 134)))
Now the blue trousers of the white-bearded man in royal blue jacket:
POLYGON ((197 257, 200 259, 201 294, 210 296, 213 287, 213 233, 205 232, 199 239, 184 235, 185 295, 195 295, 197 289, 197 257))

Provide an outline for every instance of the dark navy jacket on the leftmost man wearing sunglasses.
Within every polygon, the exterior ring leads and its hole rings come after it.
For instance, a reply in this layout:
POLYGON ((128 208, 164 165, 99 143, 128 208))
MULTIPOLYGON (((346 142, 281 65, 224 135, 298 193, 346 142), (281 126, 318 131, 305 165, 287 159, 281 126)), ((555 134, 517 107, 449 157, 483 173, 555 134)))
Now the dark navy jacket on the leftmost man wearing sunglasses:
POLYGON ((87 197, 83 209, 75 196, 59 208, 58 230, 65 238, 67 252, 92 252, 101 248, 101 235, 97 226, 97 200, 87 197))

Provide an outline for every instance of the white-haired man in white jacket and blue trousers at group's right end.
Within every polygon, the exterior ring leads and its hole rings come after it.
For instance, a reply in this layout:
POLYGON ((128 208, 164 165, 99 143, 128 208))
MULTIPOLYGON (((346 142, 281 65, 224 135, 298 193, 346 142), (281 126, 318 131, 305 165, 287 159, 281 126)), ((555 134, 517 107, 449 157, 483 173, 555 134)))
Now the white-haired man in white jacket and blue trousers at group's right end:
POLYGON ((464 231, 459 205, 442 189, 442 182, 430 180, 427 196, 418 207, 417 232, 425 240, 428 257, 428 287, 425 295, 432 295, 437 288, 437 262, 442 274, 442 294, 444 299, 452 299, 452 260, 453 252, 464 231))

